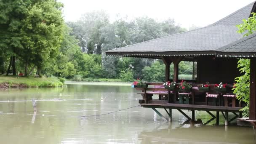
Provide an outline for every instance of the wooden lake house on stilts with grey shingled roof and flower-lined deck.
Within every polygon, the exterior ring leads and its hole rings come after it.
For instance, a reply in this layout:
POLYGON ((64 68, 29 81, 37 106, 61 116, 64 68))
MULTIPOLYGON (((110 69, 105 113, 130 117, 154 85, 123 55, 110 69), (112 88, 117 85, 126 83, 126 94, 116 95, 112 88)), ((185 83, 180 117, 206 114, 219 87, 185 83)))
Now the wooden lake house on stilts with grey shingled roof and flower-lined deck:
MULTIPOLYGON (((239 111, 244 106, 237 101, 232 93, 235 77, 240 75, 237 69, 239 58, 251 60, 250 77, 250 113, 249 121, 256 123, 256 34, 243 37, 237 33, 237 24, 256 12, 256 3, 251 3, 235 11, 225 18, 199 29, 181 32, 175 35, 149 40, 143 43, 129 45, 106 51, 108 56, 139 57, 161 59, 165 64, 165 81, 174 81, 177 86, 184 82, 179 79, 179 62, 196 61, 197 77, 195 80, 185 80, 192 85, 190 91, 181 92, 179 88, 165 88, 163 83, 147 83, 150 88, 137 88, 142 95, 141 107, 152 108, 160 117, 166 120, 156 108, 165 109, 171 121, 172 109, 177 109, 189 120, 195 121, 195 110, 206 111, 219 124, 219 112, 224 115, 225 125, 229 123, 229 112, 235 117, 241 117, 239 111), (170 80, 170 64, 173 63, 173 80, 170 80), (207 83, 209 82, 209 84, 207 83), (215 88, 215 83, 227 83, 224 88, 215 88), (206 85, 201 88, 198 85, 206 85), (225 88, 226 87, 226 88, 225 88), (152 99, 153 94, 159 95, 152 99), (192 117, 182 110, 189 109, 192 117), (213 115, 212 112, 216 112, 213 115), (238 113, 238 114, 237 114, 238 113)), ((163 72, 164 73, 164 72, 163 72)))

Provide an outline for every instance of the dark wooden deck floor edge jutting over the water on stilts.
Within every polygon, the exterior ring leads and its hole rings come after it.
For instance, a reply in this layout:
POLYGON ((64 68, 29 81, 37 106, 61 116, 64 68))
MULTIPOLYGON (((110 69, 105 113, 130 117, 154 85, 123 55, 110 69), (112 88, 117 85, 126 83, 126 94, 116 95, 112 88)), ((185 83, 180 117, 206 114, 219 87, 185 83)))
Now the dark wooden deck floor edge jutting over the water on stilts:
POLYGON ((165 109, 189 109, 201 111, 218 111, 218 112, 240 112, 241 107, 222 107, 209 105, 193 105, 193 104, 141 104, 141 107, 147 108, 165 108, 165 109))

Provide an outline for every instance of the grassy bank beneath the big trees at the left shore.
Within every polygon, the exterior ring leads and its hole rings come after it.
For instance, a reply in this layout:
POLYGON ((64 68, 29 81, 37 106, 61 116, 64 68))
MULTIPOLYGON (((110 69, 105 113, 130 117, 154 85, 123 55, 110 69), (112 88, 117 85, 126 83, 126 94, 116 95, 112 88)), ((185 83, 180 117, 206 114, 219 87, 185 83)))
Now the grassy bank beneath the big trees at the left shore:
POLYGON ((13 77, 0 76, 0 88, 61 87, 64 84, 57 77, 13 77))

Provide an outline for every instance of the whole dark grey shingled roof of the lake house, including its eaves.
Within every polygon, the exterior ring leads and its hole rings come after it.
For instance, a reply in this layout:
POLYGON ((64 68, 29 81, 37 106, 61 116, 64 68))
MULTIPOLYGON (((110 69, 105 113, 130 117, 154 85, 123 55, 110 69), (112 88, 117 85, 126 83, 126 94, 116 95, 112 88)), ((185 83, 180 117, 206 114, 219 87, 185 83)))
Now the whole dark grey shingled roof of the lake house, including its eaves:
POLYGON ((235 26, 242 23, 242 19, 247 19, 254 11, 255 2, 206 27, 116 48, 106 51, 106 54, 154 59, 158 59, 160 56, 222 56, 223 54, 227 56, 247 56, 248 53, 254 55, 256 51, 249 44, 250 50, 238 50, 239 46, 232 48, 226 46, 236 43, 237 40, 243 37, 242 34, 237 33, 237 27, 235 26))

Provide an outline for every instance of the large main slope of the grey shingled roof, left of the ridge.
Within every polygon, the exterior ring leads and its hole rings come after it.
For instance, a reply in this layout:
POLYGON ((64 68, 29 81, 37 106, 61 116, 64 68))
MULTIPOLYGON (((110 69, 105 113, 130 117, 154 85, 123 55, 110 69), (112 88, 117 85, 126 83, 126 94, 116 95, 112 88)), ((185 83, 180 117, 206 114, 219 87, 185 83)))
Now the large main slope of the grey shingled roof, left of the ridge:
MULTIPOLYGON (((136 52, 192 52, 192 51, 216 51, 219 48, 235 42, 243 37, 237 33, 237 24, 242 23, 242 19, 247 19, 252 11, 254 3, 235 11, 225 18, 200 29, 182 32, 174 35, 149 40, 143 43, 129 45, 107 51, 107 55, 115 53, 136 53, 136 52)), ((241 44, 242 45, 242 44, 241 44)), ((250 46, 247 45, 246 46, 250 46)), ((238 47, 237 47, 238 48, 238 47)), ((250 47, 251 48, 251 47, 250 47)), ((232 51, 235 48, 226 51, 232 51)), ((236 51, 240 51, 237 49, 236 51)), ((245 50, 243 50, 245 51, 245 50)))

